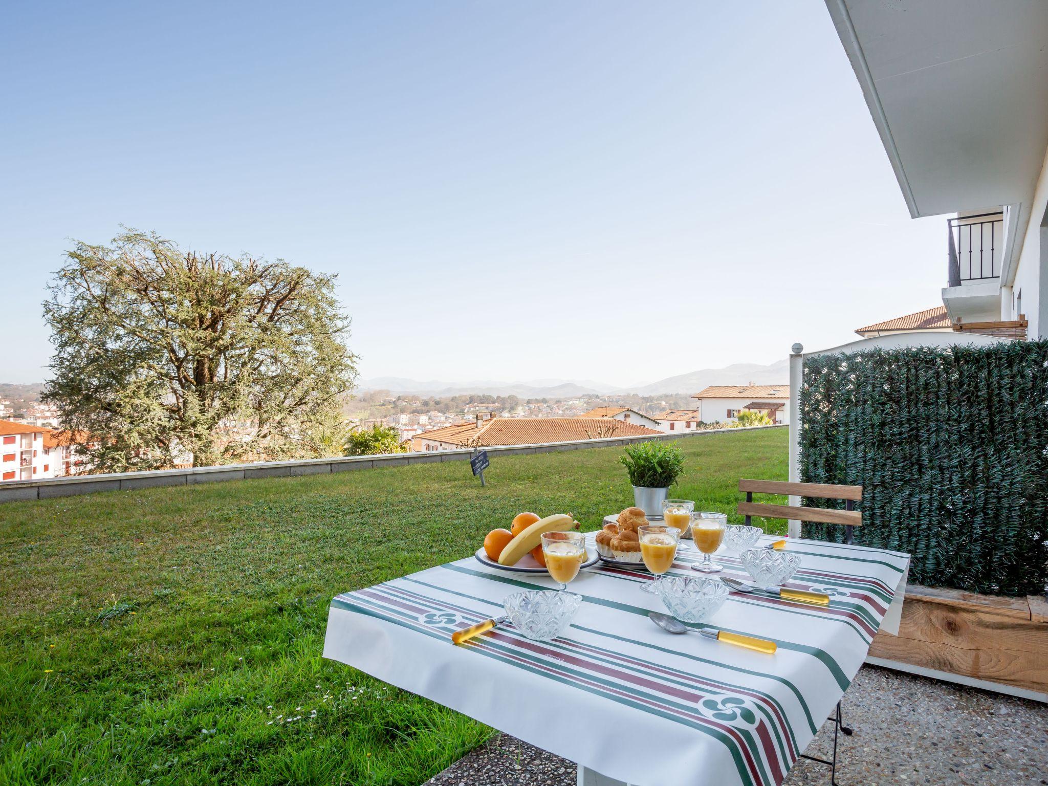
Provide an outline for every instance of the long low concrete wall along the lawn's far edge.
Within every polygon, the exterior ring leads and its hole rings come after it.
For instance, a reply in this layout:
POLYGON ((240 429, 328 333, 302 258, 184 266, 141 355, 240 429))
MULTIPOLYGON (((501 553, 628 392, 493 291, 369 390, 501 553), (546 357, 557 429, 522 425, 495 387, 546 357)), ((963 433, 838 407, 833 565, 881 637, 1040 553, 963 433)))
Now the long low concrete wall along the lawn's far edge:
MULTIPOLYGON (((582 451, 587 447, 621 447, 634 442, 651 440, 695 439, 719 434, 738 434, 742 431, 762 429, 785 429, 785 425, 756 425, 743 429, 715 429, 680 434, 659 434, 643 437, 610 437, 586 439, 580 442, 546 442, 528 445, 499 445, 485 447, 492 458, 496 456, 519 456, 561 451, 582 451)), ((6 481, 0 483, 0 502, 47 499, 49 497, 73 497, 94 492, 131 490, 152 486, 183 486, 194 483, 214 483, 223 480, 246 480, 249 478, 299 477, 302 475, 327 475, 351 470, 370 470, 378 466, 401 466, 405 464, 428 464, 434 461, 467 461, 471 449, 460 451, 439 451, 432 453, 395 453, 387 456, 351 456, 346 458, 306 459, 301 461, 268 461, 256 464, 225 464, 223 466, 199 466, 192 470, 165 470, 158 472, 114 473, 112 475, 74 475, 68 478, 47 480, 6 481)))

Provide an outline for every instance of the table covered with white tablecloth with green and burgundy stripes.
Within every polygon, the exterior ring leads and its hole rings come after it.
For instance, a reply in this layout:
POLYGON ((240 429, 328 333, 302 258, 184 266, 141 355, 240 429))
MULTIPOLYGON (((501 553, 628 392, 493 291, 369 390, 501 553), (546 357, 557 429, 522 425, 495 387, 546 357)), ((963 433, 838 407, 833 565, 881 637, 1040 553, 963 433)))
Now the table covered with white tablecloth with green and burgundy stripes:
MULTIPOLYGON (((552 641, 505 624, 453 645, 454 631, 502 614, 507 594, 553 587, 471 556, 335 596, 324 656, 576 762, 587 786, 779 784, 858 672, 910 561, 792 538, 787 550, 802 563, 786 586, 829 606, 733 591, 690 626, 773 639, 770 655, 663 631, 648 618, 661 599, 640 591, 652 575, 604 563, 570 584, 583 603, 552 641)), ((679 550, 669 575, 699 575, 699 558, 679 550)), ((738 552, 717 561, 749 581, 738 552)))

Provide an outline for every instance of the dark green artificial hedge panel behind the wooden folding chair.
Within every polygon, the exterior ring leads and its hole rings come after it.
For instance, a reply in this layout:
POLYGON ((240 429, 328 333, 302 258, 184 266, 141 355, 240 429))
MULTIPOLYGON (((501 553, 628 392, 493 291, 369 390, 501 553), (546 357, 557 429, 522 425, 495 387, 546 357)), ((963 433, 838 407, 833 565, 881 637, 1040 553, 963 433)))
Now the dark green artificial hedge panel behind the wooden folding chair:
POLYGON ((863 486, 855 543, 911 553, 919 584, 1044 592, 1048 342, 815 356, 800 403, 803 479, 863 486))

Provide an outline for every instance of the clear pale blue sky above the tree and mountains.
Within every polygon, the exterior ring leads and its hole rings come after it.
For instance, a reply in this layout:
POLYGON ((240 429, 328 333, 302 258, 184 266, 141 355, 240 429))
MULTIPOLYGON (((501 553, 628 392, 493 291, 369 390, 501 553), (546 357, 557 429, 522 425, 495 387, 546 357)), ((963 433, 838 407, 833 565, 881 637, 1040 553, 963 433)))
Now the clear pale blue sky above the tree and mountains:
POLYGON ((0 381, 70 238, 339 274, 365 376, 652 381, 940 305, 825 5, 23 3, 0 381))

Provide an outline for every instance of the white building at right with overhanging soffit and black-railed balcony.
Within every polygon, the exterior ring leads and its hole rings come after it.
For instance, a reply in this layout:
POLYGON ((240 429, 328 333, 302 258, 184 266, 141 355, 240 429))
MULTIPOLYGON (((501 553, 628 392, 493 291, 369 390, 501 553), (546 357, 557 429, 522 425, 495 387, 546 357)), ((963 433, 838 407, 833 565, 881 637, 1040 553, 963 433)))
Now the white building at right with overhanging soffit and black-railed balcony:
POLYGON ((827 7, 910 215, 947 216, 953 329, 1048 336, 1048 2, 827 7))

